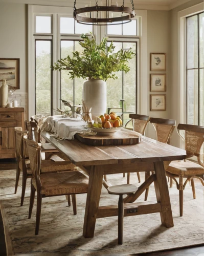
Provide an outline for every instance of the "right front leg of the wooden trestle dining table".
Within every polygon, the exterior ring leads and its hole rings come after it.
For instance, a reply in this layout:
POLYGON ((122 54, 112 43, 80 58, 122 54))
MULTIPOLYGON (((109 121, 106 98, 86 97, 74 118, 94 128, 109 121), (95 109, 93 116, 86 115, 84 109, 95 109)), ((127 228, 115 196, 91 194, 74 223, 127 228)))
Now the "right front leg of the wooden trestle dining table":
POLYGON ((154 181, 156 199, 161 202, 162 207, 162 212, 160 213, 161 221, 165 227, 173 227, 173 216, 164 163, 154 162, 154 169, 156 173, 156 180, 154 181))

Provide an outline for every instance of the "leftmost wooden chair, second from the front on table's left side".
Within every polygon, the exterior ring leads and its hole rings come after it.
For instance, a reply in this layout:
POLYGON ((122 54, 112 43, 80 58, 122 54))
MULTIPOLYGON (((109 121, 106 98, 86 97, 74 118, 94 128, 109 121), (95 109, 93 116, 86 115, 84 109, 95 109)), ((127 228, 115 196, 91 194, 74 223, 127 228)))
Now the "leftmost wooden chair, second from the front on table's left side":
MULTIPOLYGON (((29 135, 28 131, 22 131, 22 127, 14 128, 15 134, 15 147, 16 147, 16 182, 15 182, 15 194, 17 193, 20 171, 22 172, 22 191, 21 191, 21 201, 20 206, 24 204, 25 191, 27 179, 32 177, 32 172, 30 169, 30 160, 28 158, 28 153, 23 143, 23 138, 27 138, 29 135)), ((58 160, 58 159, 57 159, 58 160)), ((66 172, 70 170, 75 170, 76 166, 70 161, 55 161, 51 159, 43 160, 41 162, 41 173, 56 173, 56 172, 66 172)), ((70 198, 67 198, 68 205, 71 205, 70 198)))

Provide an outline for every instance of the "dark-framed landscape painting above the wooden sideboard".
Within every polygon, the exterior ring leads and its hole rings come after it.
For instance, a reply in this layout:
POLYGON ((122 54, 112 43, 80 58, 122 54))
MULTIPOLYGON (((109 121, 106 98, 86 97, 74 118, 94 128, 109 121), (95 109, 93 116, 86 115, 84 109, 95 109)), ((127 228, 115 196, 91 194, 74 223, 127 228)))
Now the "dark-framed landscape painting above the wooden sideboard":
POLYGON ((20 89, 20 59, 0 58, 0 86, 3 79, 14 90, 20 89))

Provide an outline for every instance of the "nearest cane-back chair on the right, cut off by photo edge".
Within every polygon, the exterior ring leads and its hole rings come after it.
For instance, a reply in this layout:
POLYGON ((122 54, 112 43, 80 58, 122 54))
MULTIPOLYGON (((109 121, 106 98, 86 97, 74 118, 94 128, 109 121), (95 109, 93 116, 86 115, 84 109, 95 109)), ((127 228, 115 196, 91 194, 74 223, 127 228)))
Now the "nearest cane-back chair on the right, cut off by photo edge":
POLYGON ((191 181, 193 199, 196 199, 195 184, 193 179, 199 179, 204 186, 204 164, 200 159, 200 150, 204 142, 204 127, 191 124, 178 124, 177 131, 179 136, 185 141, 185 149, 189 157, 196 156, 198 164, 189 160, 172 161, 166 168, 166 175, 173 179, 179 190, 179 210, 183 216, 184 189, 188 181, 191 181), (185 131, 185 138, 181 135, 185 131), (177 182, 176 178, 179 178, 177 182), (183 179, 187 178, 185 182, 183 179))

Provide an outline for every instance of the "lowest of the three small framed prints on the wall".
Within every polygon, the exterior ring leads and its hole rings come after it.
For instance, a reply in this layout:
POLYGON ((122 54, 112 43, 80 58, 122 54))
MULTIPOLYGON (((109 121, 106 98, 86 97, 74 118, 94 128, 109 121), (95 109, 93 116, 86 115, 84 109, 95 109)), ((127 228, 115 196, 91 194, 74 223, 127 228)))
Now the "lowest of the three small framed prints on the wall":
POLYGON ((150 94, 150 111, 166 111, 166 94, 150 94))

